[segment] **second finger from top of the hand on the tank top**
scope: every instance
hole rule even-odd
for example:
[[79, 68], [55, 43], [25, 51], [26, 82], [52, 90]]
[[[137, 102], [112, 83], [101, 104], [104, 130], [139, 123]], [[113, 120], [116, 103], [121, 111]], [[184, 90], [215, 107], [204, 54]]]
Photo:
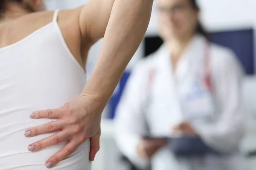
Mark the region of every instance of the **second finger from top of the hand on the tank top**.
[[50, 133], [50, 132], [55, 132], [57, 130], [61, 130], [65, 126], [66, 125], [61, 120], [52, 121], [52, 122], [46, 123], [44, 125], [39, 125], [37, 127], [32, 127], [31, 129], [26, 130], [24, 135], [26, 137], [37, 136], [39, 134]]

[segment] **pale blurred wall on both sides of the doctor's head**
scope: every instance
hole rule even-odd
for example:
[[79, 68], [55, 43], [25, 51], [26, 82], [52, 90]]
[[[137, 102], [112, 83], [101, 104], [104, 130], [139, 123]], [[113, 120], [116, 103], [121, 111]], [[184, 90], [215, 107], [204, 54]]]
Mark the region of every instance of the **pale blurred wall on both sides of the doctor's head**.
[[[202, 23], [208, 30], [256, 27], [255, 0], [198, 0]], [[157, 0], [148, 34], [157, 34]]]

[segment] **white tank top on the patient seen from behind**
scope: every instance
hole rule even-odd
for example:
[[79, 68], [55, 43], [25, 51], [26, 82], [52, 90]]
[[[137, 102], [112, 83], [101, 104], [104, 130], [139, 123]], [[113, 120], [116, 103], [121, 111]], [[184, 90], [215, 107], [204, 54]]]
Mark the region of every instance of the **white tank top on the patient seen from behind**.
[[[66, 144], [31, 153], [29, 144], [54, 133], [26, 138], [30, 127], [55, 119], [29, 118], [33, 111], [59, 108], [78, 96], [86, 74], [53, 21], [23, 40], [0, 48], [0, 170], [47, 170], [45, 161]], [[52, 170], [90, 170], [90, 142], [84, 142]]]

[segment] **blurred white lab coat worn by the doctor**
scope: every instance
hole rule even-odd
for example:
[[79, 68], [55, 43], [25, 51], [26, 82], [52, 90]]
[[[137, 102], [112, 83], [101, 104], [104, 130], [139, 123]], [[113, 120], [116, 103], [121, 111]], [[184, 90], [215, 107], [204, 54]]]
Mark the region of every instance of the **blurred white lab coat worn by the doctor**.
[[[172, 127], [185, 121], [180, 96], [203, 75], [206, 44], [203, 36], [196, 35], [183, 52], [175, 73], [165, 45], [132, 71], [117, 108], [115, 130], [119, 149], [138, 167], [148, 164], [136, 151], [140, 137], [148, 134], [147, 125], [153, 136], [170, 136]], [[247, 170], [239, 151], [245, 130], [240, 94], [243, 71], [229, 49], [215, 44], [210, 44], [209, 49], [215, 110], [211, 119], [189, 122], [206, 144], [230, 155], [179, 158], [163, 147], [151, 160], [153, 170]], [[155, 76], [148, 92], [152, 68]], [[151, 102], [147, 105], [149, 93]]]

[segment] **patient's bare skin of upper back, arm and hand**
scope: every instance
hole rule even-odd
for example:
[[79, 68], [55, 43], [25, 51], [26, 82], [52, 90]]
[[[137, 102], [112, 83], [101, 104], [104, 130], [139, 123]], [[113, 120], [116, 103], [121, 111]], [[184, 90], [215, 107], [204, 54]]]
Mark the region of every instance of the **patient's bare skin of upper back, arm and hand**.
[[[81, 95], [61, 108], [31, 114], [32, 119], [58, 118], [58, 121], [26, 130], [31, 133], [29, 137], [61, 130], [30, 144], [29, 147], [35, 146], [32, 152], [68, 141], [45, 162], [50, 165], [48, 167], [70, 156], [87, 139], [91, 141], [90, 160], [94, 159], [99, 150], [101, 113], [145, 35], [152, 4], [153, 0], [90, 0], [79, 8], [59, 12], [58, 24], [64, 40], [82, 67], [91, 45], [102, 37], [104, 40]], [[8, 3], [0, 17], [0, 48], [22, 40], [50, 23], [53, 11], [41, 11], [43, 9], [42, 0]]]

